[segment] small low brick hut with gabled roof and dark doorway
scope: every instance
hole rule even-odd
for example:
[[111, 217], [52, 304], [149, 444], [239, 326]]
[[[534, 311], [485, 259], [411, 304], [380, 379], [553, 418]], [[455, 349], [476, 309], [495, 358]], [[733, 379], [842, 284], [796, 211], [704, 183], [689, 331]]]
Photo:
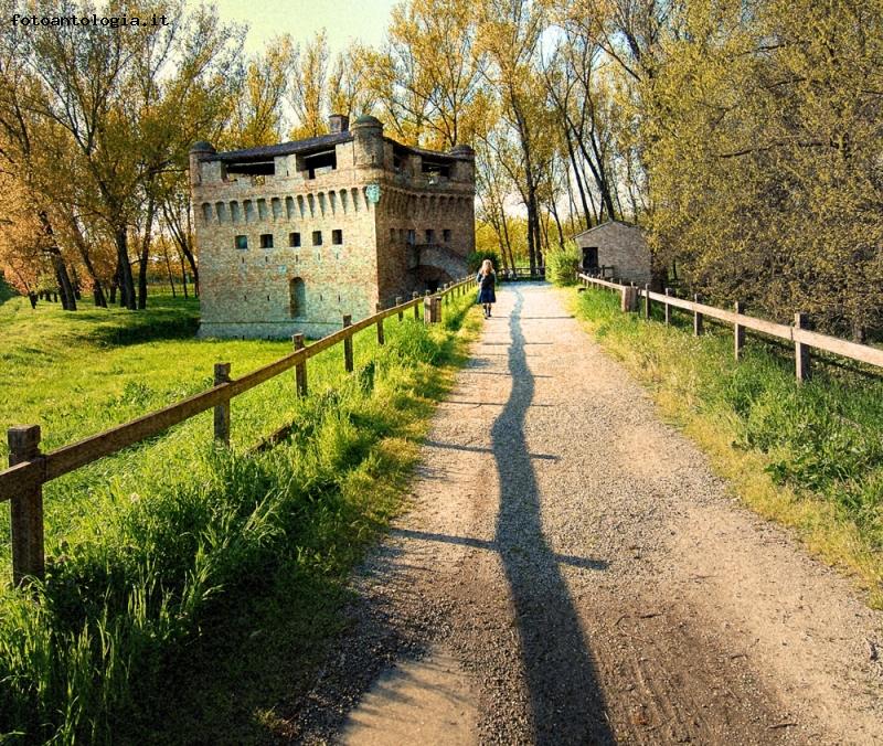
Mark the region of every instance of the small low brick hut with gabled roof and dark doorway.
[[608, 221], [574, 236], [581, 271], [600, 273], [645, 285], [652, 280], [650, 248], [643, 231], [631, 223]]

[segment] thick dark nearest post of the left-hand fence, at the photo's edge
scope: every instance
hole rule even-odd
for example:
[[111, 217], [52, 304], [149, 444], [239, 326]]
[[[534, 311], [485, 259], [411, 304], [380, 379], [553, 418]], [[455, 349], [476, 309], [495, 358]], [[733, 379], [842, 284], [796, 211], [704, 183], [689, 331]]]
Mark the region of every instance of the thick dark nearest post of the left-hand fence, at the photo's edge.
[[[10, 427], [9, 466], [40, 458], [40, 425]], [[43, 579], [45, 557], [43, 554], [43, 484], [22, 490], [12, 498], [12, 583], [24, 586], [28, 578]]]

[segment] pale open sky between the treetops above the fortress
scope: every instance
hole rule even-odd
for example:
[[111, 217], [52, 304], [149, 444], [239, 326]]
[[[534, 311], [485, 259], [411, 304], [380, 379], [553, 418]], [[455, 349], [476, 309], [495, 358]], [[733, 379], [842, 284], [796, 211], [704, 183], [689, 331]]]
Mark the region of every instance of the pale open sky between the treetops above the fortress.
[[[267, 41], [290, 33], [301, 45], [317, 31], [328, 32], [333, 56], [352, 39], [372, 46], [383, 33], [395, 0], [211, 0], [225, 21], [248, 24], [246, 52], [258, 52]], [[196, 3], [193, 3], [196, 4]]]

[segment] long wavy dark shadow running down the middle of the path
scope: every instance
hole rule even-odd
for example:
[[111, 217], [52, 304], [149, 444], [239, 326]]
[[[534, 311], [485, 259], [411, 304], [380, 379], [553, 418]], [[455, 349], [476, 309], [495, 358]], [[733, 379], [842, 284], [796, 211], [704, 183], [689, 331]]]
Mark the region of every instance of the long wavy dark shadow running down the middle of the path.
[[523, 294], [509, 320], [512, 392], [491, 429], [500, 477], [496, 544], [511, 587], [536, 744], [613, 744], [576, 609], [543, 537], [540, 492], [524, 420], [534, 395], [521, 329]]

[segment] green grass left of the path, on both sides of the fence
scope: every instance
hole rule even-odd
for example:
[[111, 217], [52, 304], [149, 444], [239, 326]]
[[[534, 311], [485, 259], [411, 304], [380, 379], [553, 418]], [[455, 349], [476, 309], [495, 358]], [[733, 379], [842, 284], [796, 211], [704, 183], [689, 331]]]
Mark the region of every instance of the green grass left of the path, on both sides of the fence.
[[[289, 374], [237, 397], [228, 450], [205, 413], [45, 486], [46, 582], [0, 594], [0, 740], [284, 735], [274, 708], [345, 624], [348, 573], [401, 507], [471, 300], [434, 329], [387, 320], [384, 348], [360, 333], [354, 375], [321, 353], [306, 398]], [[290, 349], [189, 339], [195, 307], [170, 299], [141, 315], [17, 302], [0, 307], [0, 411], [44, 425], [50, 447], [204, 388], [215, 361], [235, 376]]]

